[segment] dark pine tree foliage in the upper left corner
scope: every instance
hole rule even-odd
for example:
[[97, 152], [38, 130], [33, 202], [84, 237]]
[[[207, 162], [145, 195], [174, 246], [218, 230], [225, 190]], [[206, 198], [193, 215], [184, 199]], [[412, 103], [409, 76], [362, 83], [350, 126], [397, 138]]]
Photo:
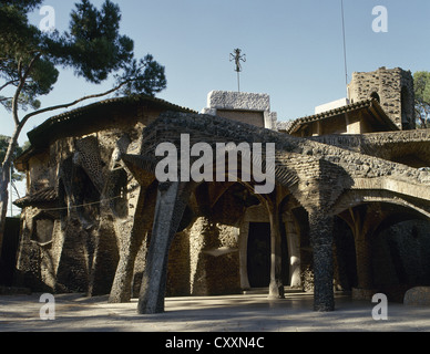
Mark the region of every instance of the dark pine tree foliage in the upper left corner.
[[20, 108], [38, 110], [38, 97], [52, 92], [59, 79], [58, 66], [71, 67], [78, 77], [94, 84], [115, 74], [122, 80], [117, 84], [126, 83], [123, 93], [127, 94], [154, 95], [166, 87], [164, 67], [151, 55], [134, 59], [133, 40], [120, 34], [119, 6], [106, 0], [98, 10], [89, 0], [81, 0], [70, 15], [68, 31], [44, 33], [28, 20], [29, 11], [42, 2], [0, 2], [0, 104], [6, 108], [13, 111], [13, 95], [1, 91], [12, 87], [19, 91]]

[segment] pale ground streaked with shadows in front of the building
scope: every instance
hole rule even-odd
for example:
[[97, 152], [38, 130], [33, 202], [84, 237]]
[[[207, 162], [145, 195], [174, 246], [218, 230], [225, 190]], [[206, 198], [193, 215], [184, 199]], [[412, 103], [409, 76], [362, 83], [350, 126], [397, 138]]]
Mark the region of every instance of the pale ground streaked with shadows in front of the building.
[[1, 332], [430, 332], [430, 309], [390, 303], [388, 321], [375, 304], [336, 298], [336, 311], [313, 311], [311, 294], [166, 299], [166, 312], [139, 315], [137, 301], [109, 304], [108, 296], [55, 296], [55, 320], [41, 321], [40, 296], [0, 296]]

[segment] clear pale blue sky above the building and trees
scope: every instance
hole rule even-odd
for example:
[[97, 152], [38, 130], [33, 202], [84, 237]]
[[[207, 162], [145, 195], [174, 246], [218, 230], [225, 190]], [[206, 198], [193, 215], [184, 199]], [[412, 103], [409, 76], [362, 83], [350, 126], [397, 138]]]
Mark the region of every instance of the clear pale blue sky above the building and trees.
[[[69, 25], [75, 1], [47, 0], [55, 25]], [[102, 0], [93, 0], [100, 7]], [[340, 0], [116, 0], [121, 32], [135, 42], [136, 56], [154, 55], [166, 67], [167, 90], [158, 97], [196, 111], [208, 92], [237, 90], [229, 53], [247, 56], [240, 75], [244, 92], [267, 93], [279, 121], [314, 113], [315, 106], [346, 95]], [[349, 80], [352, 72], [400, 66], [430, 70], [430, 1], [344, 0]], [[376, 33], [372, 9], [385, 6], [388, 32]], [[43, 15], [32, 15], [38, 24]], [[51, 105], [111, 87], [86, 85], [62, 72]], [[10, 117], [0, 112], [9, 127]], [[28, 129], [49, 117], [29, 123]], [[27, 129], [27, 131], [28, 131]], [[7, 133], [4, 132], [4, 133]], [[3, 132], [2, 132], [3, 134]], [[24, 139], [23, 136], [22, 139]], [[21, 139], [21, 140], [22, 140]]]

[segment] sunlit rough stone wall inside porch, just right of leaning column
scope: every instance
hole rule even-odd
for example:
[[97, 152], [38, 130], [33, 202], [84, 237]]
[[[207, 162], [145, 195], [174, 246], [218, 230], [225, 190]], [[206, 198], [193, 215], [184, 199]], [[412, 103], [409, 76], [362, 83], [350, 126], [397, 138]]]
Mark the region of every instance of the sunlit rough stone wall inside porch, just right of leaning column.
[[[242, 188], [235, 188], [242, 191]], [[213, 295], [240, 291], [239, 232], [245, 208], [234, 191], [213, 191], [217, 202], [176, 233], [168, 258], [167, 295]], [[219, 194], [222, 194], [219, 196]], [[208, 205], [214, 204], [209, 198]], [[205, 208], [204, 205], [199, 205]]]

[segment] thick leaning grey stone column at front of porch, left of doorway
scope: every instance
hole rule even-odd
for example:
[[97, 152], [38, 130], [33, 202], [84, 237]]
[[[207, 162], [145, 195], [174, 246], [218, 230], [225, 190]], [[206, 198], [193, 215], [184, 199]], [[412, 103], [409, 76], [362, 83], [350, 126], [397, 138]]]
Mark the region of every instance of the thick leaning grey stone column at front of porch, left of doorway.
[[140, 314], [164, 312], [168, 249], [190, 199], [188, 187], [190, 184], [181, 183], [158, 186], [154, 227], [137, 305]]

